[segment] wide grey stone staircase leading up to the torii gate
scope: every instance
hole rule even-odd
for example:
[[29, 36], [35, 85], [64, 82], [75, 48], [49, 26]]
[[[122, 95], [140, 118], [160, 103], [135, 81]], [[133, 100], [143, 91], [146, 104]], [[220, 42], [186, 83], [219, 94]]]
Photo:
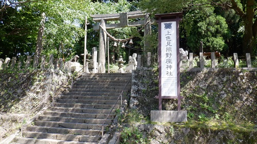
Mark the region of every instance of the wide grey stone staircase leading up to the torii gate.
[[[107, 115], [131, 76], [131, 73], [83, 75], [69, 92], [56, 99], [54, 107], [49, 107], [24, 130], [23, 137], [16, 138], [16, 143], [98, 143], [102, 124], [105, 129], [112, 123], [115, 110]], [[122, 99], [130, 89], [131, 81]], [[120, 105], [119, 99], [114, 109]]]

